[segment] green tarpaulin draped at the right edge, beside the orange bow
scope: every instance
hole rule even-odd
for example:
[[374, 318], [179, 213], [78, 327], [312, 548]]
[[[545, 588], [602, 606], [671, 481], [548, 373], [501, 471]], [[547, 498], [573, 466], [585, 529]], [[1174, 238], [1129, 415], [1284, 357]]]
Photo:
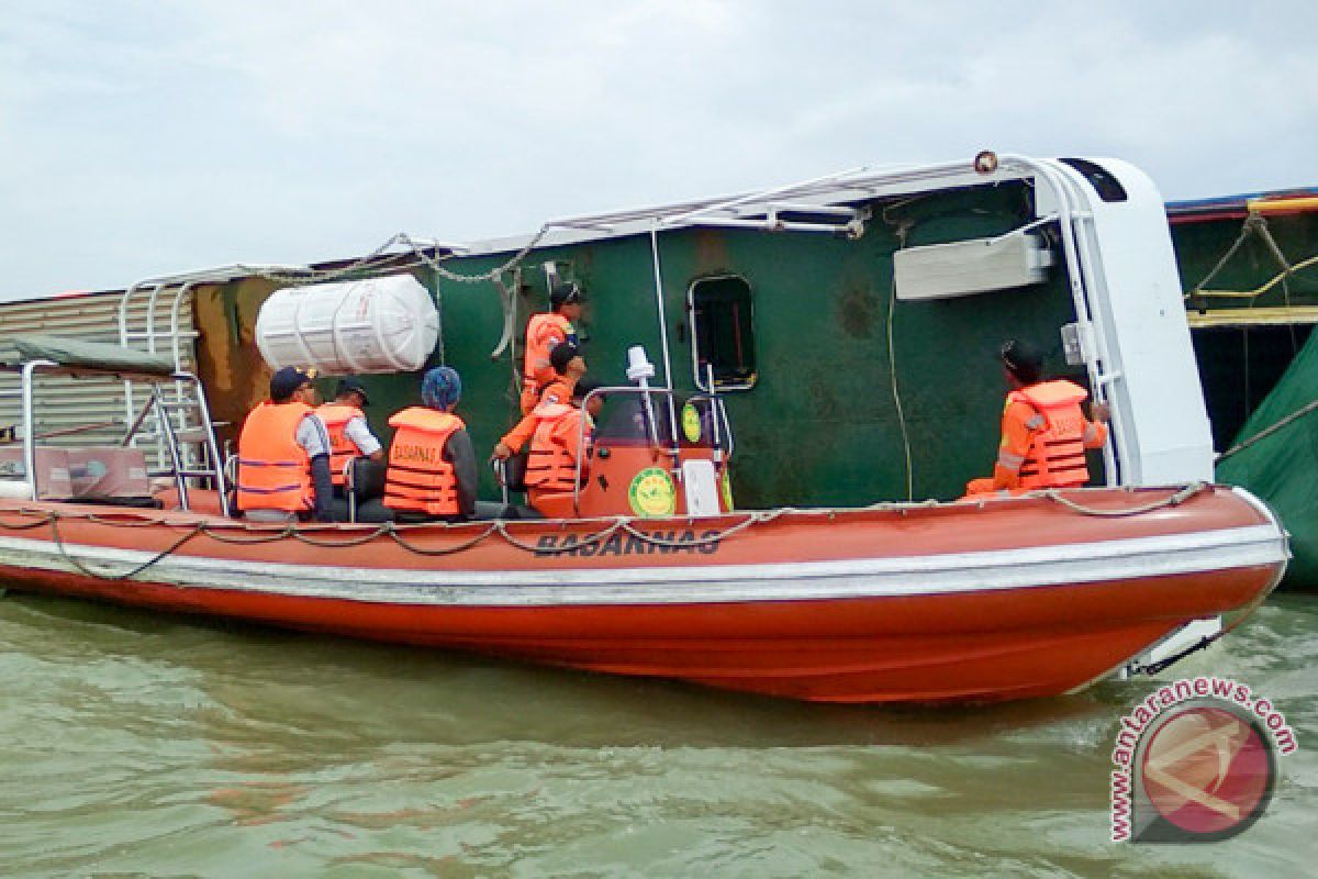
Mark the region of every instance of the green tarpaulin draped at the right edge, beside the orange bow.
[[1318, 589], [1318, 409], [1304, 410], [1315, 399], [1318, 332], [1309, 337], [1281, 381], [1240, 428], [1234, 445], [1247, 445], [1228, 449], [1217, 469], [1219, 481], [1249, 489], [1281, 517], [1294, 553], [1286, 584], [1309, 590]]

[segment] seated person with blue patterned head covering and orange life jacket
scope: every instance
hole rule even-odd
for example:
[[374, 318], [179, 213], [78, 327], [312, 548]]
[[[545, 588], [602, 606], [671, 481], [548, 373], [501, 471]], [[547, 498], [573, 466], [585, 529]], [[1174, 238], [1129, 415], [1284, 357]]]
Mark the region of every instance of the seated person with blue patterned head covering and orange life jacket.
[[463, 380], [449, 366], [435, 366], [422, 380], [424, 406], [394, 414], [389, 426], [385, 506], [399, 522], [463, 522], [476, 513], [476, 452], [463, 419], [453, 414]]

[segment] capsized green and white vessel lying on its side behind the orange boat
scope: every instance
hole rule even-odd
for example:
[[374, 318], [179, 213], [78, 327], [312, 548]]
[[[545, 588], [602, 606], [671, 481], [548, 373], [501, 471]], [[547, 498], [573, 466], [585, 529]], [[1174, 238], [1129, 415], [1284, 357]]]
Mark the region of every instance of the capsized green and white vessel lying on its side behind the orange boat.
[[[996, 456], [1007, 339], [1111, 403], [1095, 482], [1213, 472], [1162, 198], [1118, 159], [986, 152], [497, 241], [397, 236], [356, 260], [152, 278], [119, 298], [119, 339], [195, 358], [232, 440], [266, 395], [257, 323], [272, 294], [397, 274], [431, 294], [439, 332], [418, 369], [362, 376], [381, 435], [415, 402], [419, 372], [443, 362], [463, 374], [477, 448], [492, 448], [518, 414], [527, 316], [571, 281], [588, 299], [579, 331], [594, 377], [623, 383], [627, 348], [643, 345], [656, 383], [724, 398], [741, 507], [958, 497]], [[130, 412], [127, 395], [115, 405]], [[497, 493], [492, 478], [484, 490]]]

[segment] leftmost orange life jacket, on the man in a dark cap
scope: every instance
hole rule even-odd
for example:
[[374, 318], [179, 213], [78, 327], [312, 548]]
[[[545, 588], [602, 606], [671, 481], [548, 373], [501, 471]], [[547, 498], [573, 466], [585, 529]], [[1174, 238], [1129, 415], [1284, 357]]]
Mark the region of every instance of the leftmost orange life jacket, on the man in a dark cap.
[[239, 435], [240, 510], [312, 509], [311, 460], [297, 439], [298, 424], [310, 414], [306, 403], [270, 401], [248, 414]]

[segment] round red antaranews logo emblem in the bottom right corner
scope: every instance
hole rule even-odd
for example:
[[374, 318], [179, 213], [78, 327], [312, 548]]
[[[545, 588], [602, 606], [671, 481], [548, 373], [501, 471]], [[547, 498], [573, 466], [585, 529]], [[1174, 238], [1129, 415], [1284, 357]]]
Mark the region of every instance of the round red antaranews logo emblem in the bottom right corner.
[[1267, 734], [1234, 705], [1186, 706], [1152, 730], [1139, 762], [1144, 796], [1165, 838], [1226, 839], [1272, 799], [1276, 760]]

